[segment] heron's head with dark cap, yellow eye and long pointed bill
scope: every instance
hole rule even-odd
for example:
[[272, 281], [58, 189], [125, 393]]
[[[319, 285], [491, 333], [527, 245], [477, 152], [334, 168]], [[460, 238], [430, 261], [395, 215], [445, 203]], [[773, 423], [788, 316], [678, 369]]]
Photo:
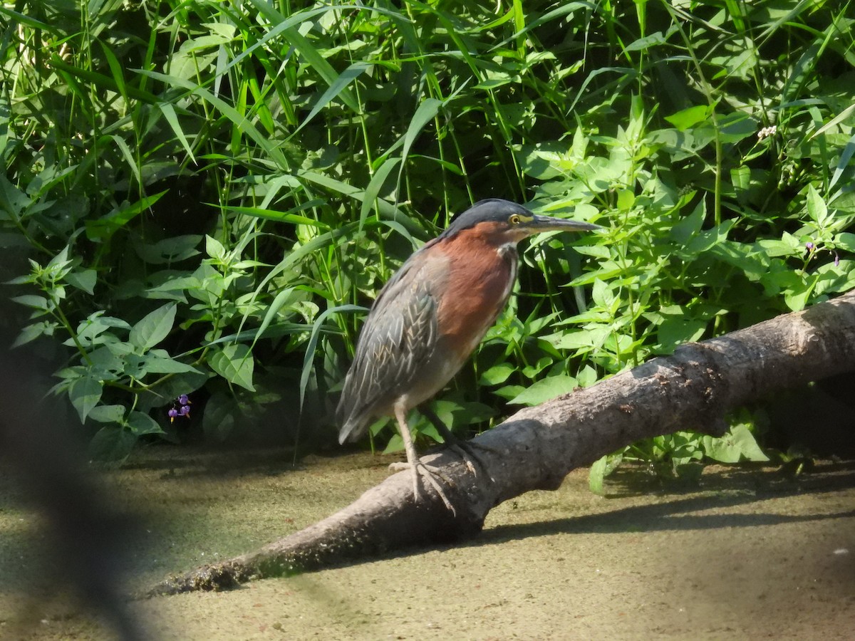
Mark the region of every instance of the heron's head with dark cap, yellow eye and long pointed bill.
[[490, 244], [516, 244], [540, 232], [593, 232], [603, 227], [589, 222], [570, 221], [534, 214], [522, 205], [500, 198], [475, 203], [458, 215], [439, 238], [452, 238], [461, 232], [473, 232]]

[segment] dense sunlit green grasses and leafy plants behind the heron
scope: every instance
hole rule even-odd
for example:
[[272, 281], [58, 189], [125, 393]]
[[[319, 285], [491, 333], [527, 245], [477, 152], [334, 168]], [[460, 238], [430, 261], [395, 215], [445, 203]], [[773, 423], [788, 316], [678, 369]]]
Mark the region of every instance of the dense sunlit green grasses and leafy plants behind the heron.
[[[275, 408], [289, 438], [323, 440], [363, 306], [482, 197], [610, 232], [531, 242], [518, 296], [439, 400], [457, 428], [802, 309], [855, 286], [852, 14], [6, 3], [0, 245], [30, 313], [18, 342], [61, 352], [56, 391], [99, 456], [176, 438], [184, 394], [212, 438]], [[636, 444], [595, 477], [622, 457], [764, 457], [756, 421], [732, 422], [725, 439]]]

